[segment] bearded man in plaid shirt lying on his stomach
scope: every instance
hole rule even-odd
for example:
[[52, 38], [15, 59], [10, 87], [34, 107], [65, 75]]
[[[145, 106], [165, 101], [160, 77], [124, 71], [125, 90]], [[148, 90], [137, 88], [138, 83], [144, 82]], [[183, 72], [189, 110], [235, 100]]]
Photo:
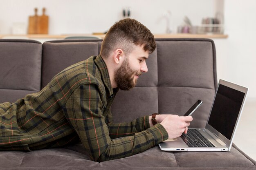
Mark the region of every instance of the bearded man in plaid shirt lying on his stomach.
[[148, 71], [146, 59], [155, 48], [143, 24], [116, 22], [100, 55], [61, 71], [38, 93], [0, 104], [0, 150], [54, 148], [81, 140], [91, 159], [100, 162], [135, 155], [186, 133], [191, 116], [154, 114], [153, 119], [112, 123], [110, 106], [118, 89], [135, 86]]

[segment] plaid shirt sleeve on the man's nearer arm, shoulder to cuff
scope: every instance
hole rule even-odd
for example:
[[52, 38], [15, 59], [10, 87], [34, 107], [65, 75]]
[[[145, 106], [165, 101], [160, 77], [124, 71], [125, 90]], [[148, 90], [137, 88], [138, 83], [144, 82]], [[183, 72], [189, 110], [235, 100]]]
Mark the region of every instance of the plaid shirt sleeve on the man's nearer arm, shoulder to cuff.
[[101, 113], [102, 106], [98, 86], [84, 84], [76, 88], [63, 109], [66, 119], [94, 161], [135, 155], [168, 138], [164, 127], [157, 124], [144, 131], [135, 132], [132, 136], [111, 140], [105, 117]]

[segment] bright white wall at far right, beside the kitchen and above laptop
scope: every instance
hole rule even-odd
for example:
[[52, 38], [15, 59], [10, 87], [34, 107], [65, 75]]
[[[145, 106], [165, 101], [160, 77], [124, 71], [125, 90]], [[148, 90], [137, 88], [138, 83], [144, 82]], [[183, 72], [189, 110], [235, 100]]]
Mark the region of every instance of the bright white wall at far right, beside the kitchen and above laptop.
[[256, 1], [225, 0], [227, 40], [215, 40], [218, 79], [249, 88], [248, 99], [256, 104]]

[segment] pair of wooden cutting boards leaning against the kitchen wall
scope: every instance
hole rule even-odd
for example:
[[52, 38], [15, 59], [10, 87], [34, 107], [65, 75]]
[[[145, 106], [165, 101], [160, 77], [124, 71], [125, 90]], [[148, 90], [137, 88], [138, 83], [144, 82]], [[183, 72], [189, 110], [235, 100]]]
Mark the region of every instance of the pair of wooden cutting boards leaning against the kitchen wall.
[[43, 8], [43, 15], [37, 15], [37, 8], [35, 8], [35, 15], [29, 16], [29, 34], [48, 34], [49, 17], [45, 15], [45, 8]]

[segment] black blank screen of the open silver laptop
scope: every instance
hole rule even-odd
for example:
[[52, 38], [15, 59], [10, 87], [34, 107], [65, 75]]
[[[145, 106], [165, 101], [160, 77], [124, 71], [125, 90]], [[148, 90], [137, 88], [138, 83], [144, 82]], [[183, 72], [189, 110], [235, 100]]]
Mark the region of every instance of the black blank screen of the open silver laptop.
[[243, 92], [219, 84], [208, 124], [229, 140], [233, 134], [244, 96]]

